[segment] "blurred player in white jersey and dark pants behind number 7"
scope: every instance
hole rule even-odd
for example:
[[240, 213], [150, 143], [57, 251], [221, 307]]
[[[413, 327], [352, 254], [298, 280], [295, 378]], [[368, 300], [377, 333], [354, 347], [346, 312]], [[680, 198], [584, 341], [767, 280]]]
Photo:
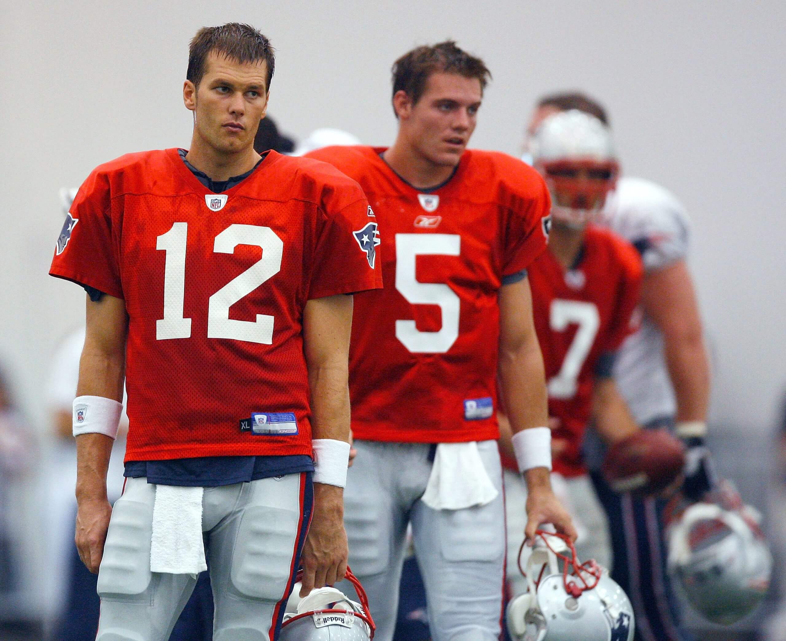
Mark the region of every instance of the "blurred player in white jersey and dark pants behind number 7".
[[[578, 109], [608, 126], [604, 108], [583, 94], [564, 93], [538, 101], [527, 127], [529, 137], [545, 118]], [[674, 196], [652, 182], [620, 178], [609, 195], [602, 222], [630, 241], [641, 255], [641, 328], [619, 350], [615, 379], [636, 422], [675, 427], [685, 440], [688, 464], [682, 492], [700, 499], [714, 483], [704, 438], [710, 368], [699, 306], [686, 257], [689, 220]], [[589, 448], [589, 444], [588, 444]], [[600, 465], [599, 457], [588, 462]], [[678, 607], [666, 571], [663, 502], [618, 495], [593, 470], [592, 477], [612, 528], [612, 578], [633, 602], [637, 641], [678, 641], [692, 637], [681, 629]]]

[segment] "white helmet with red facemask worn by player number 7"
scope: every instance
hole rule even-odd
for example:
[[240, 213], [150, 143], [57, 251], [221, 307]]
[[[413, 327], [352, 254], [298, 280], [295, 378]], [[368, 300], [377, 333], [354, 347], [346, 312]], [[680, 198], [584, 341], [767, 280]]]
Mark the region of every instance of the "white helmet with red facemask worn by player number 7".
[[578, 109], [543, 120], [527, 153], [549, 186], [553, 219], [569, 227], [583, 227], [601, 211], [619, 175], [611, 131]]

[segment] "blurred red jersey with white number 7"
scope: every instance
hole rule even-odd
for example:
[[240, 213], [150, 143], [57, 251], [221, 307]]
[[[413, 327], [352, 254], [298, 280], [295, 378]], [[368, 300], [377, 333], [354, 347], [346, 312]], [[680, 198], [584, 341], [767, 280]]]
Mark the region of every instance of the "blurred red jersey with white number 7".
[[587, 227], [582, 256], [565, 271], [551, 252], [530, 269], [535, 330], [549, 388], [549, 416], [560, 419], [555, 439], [567, 450], [554, 471], [567, 477], [586, 473], [581, 457], [592, 411], [598, 360], [619, 349], [635, 329], [632, 315], [641, 292], [641, 259], [623, 238]]

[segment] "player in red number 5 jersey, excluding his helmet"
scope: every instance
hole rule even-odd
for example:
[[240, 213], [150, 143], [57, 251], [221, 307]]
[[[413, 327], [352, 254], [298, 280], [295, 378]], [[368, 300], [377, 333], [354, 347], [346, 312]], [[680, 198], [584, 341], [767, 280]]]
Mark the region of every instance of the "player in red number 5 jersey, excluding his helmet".
[[520, 160], [466, 149], [488, 77], [483, 61], [454, 42], [418, 47], [393, 68], [393, 146], [308, 154], [360, 183], [383, 230], [384, 290], [354, 309], [358, 457], [344, 496], [350, 563], [381, 641], [394, 634], [410, 523], [433, 639], [498, 639], [498, 377], [530, 489], [527, 536], [545, 522], [574, 535], [549, 483], [527, 280], [545, 249], [549, 193]]

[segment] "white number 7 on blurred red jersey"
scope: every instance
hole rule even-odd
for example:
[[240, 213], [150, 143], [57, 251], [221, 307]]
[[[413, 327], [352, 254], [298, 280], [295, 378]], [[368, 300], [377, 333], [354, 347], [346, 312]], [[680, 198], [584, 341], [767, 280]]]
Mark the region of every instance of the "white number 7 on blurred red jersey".
[[576, 393], [578, 373], [592, 349], [598, 327], [601, 326], [601, 315], [593, 303], [556, 299], [551, 303], [549, 324], [556, 332], [564, 332], [571, 324], [578, 325], [559, 374], [549, 379], [549, 396], [554, 399], [569, 399]]

